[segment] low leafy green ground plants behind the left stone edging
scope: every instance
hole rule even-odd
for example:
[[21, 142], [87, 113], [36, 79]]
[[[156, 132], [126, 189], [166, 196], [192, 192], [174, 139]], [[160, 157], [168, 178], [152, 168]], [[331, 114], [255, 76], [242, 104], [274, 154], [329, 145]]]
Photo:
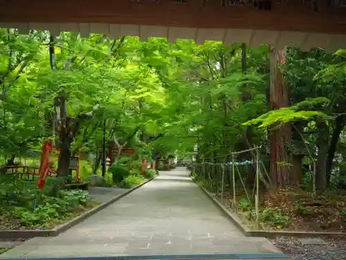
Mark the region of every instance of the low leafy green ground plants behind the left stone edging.
[[[87, 191], [62, 190], [58, 197], [51, 196], [53, 184], [54, 181], [48, 179], [44, 189], [38, 190], [37, 182], [3, 180], [0, 183], [1, 225], [10, 229], [51, 227], [91, 206]], [[34, 208], [35, 199], [37, 207]]]

